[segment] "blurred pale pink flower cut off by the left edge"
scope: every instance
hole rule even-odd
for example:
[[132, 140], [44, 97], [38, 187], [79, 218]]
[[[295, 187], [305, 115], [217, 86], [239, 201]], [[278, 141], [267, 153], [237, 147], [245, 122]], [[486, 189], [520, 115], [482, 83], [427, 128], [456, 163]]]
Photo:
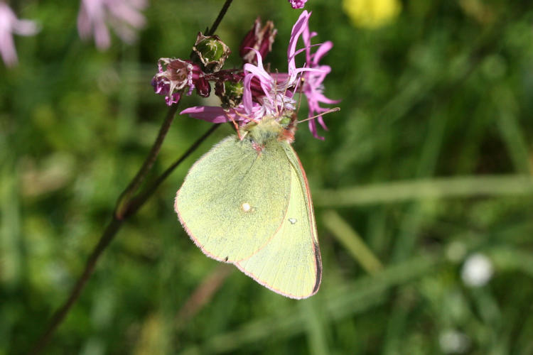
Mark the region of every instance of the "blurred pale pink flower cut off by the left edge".
[[38, 26], [30, 20], [19, 20], [11, 8], [0, 1], [0, 55], [8, 67], [16, 65], [16, 55], [13, 34], [34, 35], [38, 32]]

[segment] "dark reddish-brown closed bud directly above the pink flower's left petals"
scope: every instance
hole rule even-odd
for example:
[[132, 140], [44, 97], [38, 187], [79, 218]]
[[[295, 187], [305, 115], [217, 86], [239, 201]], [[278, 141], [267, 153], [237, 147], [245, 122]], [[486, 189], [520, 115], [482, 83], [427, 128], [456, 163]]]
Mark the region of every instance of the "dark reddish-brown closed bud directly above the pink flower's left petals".
[[[256, 18], [252, 29], [244, 36], [239, 54], [246, 63], [257, 65], [257, 56], [254, 50], [257, 50], [262, 58], [272, 50], [272, 43], [278, 31], [274, 28], [272, 21], [266, 21], [261, 28], [261, 18]], [[254, 50], [250, 49], [253, 48]]]

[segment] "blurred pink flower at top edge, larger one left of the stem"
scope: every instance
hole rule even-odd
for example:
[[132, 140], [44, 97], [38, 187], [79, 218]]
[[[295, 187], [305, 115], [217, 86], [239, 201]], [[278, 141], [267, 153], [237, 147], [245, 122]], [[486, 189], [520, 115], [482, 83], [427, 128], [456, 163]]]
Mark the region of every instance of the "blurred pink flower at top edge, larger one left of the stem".
[[100, 50], [111, 45], [108, 25], [124, 42], [132, 43], [136, 30], [146, 23], [141, 13], [146, 6], [146, 0], [81, 0], [77, 31], [84, 40], [94, 36]]

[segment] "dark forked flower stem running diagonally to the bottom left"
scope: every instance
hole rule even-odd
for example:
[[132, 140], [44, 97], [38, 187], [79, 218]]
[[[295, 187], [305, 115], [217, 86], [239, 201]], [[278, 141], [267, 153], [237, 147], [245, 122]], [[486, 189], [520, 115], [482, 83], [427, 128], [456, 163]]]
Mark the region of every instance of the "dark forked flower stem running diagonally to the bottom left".
[[[222, 21], [222, 18], [225, 16], [225, 13], [227, 12], [227, 9], [230, 7], [231, 3], [232, 0], [225, 1], [225, 4], [222, 6], [220, 13], [218, 14], [215, 22], [212, 24], [208, 33], [212, 34], [216, 31], [218, 25], [220, 24], [220, 21]], [[137, 197], [132, 199], [131, 197], [139, 189], [139, 186], [146, 178], [146, 174], [154, 165], [157, 155], [161, 150], [161, 145], [163, 144], [163, 141], [166, 137], [166, 133], [168, 133], [168, 129], [170, 129], [171, 123], [174, 119], [174, 116], [176, 115], [176, 111], [178, 110], [177, 106], [178, 105], [176, 104], [168, 109], [168, 113], [166, 114], [163, 124], [161, 124], [161, 129], [159, 129], [159, 133], [156, 138], [156, 141], [154, 142], [154, 145], [152, 146], [148, 156], [144, 160], [144, 163], [139, 169], [139, 172], [135, 175], [131, 182], [129, 182], [126, 189], [124, 189], [124, 192], [119, 195], [119, 198], [117, 200], [117, 207], [113, 212], [112, 219], [109, 224], [107, 224], [106, 229], [104, 229], [102, 236], [100, 236], [100, 239], [95, 248], [92, 250], [92, 253], [90, 254], [89, 258], [87, 258], [85, 269], [80, 275], [80, 278], [77, 279], [77, 282], [70, 291], [67, 300], [58, 310], [54, 312], [54, 315], [50, 319], [50, 322], [48, 322], [45, 331], [38, 339], [38, 341], [33, 344], [29, 354], [41, 354], [44, 351], [45, 346], [48, 344], [48, 342], [50, 342], [50, 339], [53, 337], [53, 334], [58, 329], [60, 324], [63, 323], [65, 317], [72, 309], [72, 305], [74, 305], [77, 299], [80, 297], [83, 288], [85, 288], [85, 285], [87, 284], [87, 281], [91, 277], [92, 273], [95, 271], [95, 266], [99, 257], [102, 255], [104, 250], [107, 249], [107, 246], [109, 246], [111, 241], [114, 239], [114, 236], [117, 235], [117, 232], [120, 230], [124, 221], [128, 217], [131, 217], [131, 215], [135, 214], [135, 212], [139, 210], [139, 208], [144, 204], [144, 202], [146, 202], [146, 200], [148, 200], [149, 197], [154, 194], [156, 188], [161, 185], [161, 182], [168, 178], [168, 175], [170, 175], [172, 171], [176, 169], [178, 165], [180, 165], [183, 160], [185, 160], [185, 158], [188, 157], [188, 155], [193, 153], [193, 151], [195, 151], [196, 148], [200, 146], [200, 143], [205, 141], [205, 138], [210, 136], [210, 134], [214, 132], [215, 129], [217, 129], [218, 125], [213, 125], [209, 129], [209, 131], [207, 131], [203, 136], [198, 138], [198, 140], [195, 141], [195, 143], [193, 143], [190, 148], [185, 151], [185, 153], [183, 153], [183, 155], [181, 155], [178, 160], [176, 160], [175, 163], [173, 163], [169, 168], [167, 168], [167, 170], [165, 170], [163, 174], [161, 174], [151, 185], [149, 185], [149, 187], [147, 187], [144, 192], [140, 193], [139, 195], [137, 195]]]

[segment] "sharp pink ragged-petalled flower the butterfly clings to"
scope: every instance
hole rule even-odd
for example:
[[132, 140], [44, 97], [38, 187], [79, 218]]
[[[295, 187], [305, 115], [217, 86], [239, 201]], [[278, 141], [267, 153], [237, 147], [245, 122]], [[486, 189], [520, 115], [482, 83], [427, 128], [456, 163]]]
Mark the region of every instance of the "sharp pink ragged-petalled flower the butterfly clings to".
[[[319, 106], [319, 103], [333, 103], [333, 100], [323, 96], [322, 82], [330, 72], [327, 65], [318, 65], [318, 61], [330, 50], [330, 42], [321, 45], [316, 53], [311, 54], [311, 40], [313, 34], [309, 34], [308, 20], [311, 13], [303, 11], [298, 21], [294, 24], [287, 49], [288, 72], [272, 75], [264, 68], [262, 55], [254, 50], [257, 65], [244, 64], [244, 92], [242, 102], [234, 108], [222, 109], [222, 107], [190, 107], [181, 111], [181, 114], [189, 114], [193, 118], [203, 119], [213, 123], [234, 121], [236, 124], [247, 124], [249, 121], [259, 121], [265, 116], [281, 119], [290, 116], [296, 110], [295, 92], [302, 91], [309, 102], [309, 116], [314, 112], [321, 113], [327, 109]], [[296, 50], [298, 39], [303, 37], [305, 48]], [[296, 67], [295, 56], [303, 51], [306, 52], [306, 64]], [[303, 87], [298, 87], [303, 78]], [[319, 123], [325, 128], [322, 119]], [[316, 138], [316, 124], [310, 120], [309, 128]]]

